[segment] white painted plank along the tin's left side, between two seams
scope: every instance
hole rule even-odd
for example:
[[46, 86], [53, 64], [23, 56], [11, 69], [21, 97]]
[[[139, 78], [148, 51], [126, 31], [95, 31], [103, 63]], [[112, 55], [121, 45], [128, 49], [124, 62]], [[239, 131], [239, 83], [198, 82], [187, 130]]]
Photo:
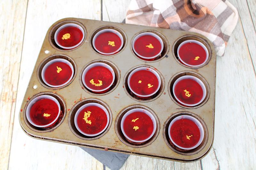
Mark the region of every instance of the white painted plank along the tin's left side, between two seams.
[[79, 147], [28, 137], [22, 131], [18, 120], [20, 105], [48, 28], [55, 21], [66, 17], [99, 20], [100, 9], [100, 0], [28, 2], [10, 169], [103, 169], [99, 161]]

